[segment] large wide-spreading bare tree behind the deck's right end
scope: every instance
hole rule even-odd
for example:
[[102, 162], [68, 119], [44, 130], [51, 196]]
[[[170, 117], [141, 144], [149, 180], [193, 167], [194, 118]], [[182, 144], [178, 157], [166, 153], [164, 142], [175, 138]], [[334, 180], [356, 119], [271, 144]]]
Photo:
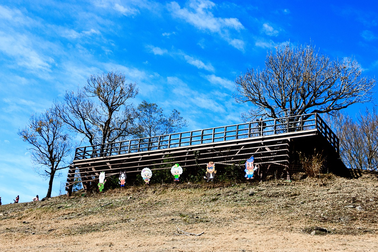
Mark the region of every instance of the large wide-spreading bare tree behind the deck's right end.
[[[244, 120], [265, 116], [333, 113], [371, 101], [375, 79], [361, 76], [355, 59], [330, 60], [310, 43], [277, 46], [266, 56], [265, 68], [247, 70], [235, 79], [234, 98], [254, 106]], [[288, 114], [286, 114], [288, 115]]]

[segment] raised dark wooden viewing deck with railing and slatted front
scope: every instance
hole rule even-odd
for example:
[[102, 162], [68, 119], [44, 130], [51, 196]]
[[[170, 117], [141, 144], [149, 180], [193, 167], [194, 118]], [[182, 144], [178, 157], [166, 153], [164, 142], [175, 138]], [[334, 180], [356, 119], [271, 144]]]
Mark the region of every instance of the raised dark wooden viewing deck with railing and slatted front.
[[253, 155], [255, 164], [263, 167], [265, 174], [271, 166], [279, 166], [286, 170], [287, 179], [290, 179], [289, 168], [297, 151], [310, 153], [317, 148], [324, 150], [330, 159], [339, 158], [338, 137], [318, 114], [263, 122], [265, 127], [256, 121], [79, 147], [68, 171], [66, 190], [71, 193], [75, 178], [82, 181], [86, 190], [90, 182], [98, 179], [101, 171], [111, 176], [121, 170], [140, 173], [144, 167], [169, 166], [172, 162], [164, 163], [167, 157], [185, 168], [198, 168], [206, 167], [209, 160], [218, 167], [242, 166]]

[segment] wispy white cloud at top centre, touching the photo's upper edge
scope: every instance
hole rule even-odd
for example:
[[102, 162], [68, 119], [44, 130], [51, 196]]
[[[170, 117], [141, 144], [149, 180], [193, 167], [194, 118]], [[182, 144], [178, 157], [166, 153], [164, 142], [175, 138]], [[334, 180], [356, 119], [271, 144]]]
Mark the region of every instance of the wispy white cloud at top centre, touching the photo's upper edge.
[[230, 31], [240, 31], [244, 29], [244, 26], [237, 18], [215, 17], [211, 12], [215, 3], [193, 0], [189, 3], [189, 8], [181, 8], [177, 2], [171, 2], [167, 6], [173, 16], [185, 20], [199, 30], [217, 33], [233, 47], [243, 50], [242, 40], [233, 39]]

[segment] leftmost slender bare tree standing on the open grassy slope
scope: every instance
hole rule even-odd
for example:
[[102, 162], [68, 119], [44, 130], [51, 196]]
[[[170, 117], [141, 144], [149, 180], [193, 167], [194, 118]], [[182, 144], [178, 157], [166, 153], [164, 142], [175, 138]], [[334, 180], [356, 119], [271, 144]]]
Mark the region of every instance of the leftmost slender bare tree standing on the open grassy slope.
[[41, 115], [31, 115], [29, 124], [18, 132], [24, 142], [33, 146], [28, 150], [33, 163], [39, 166], [33, 170], [49, 179], [46, 198], [51, 197], [54, 177], [60, 176], [59, 170], [68, 167], [65, 158], [70, 156], [72, 146], [70, 135], [64, 131], [63, 125], [50, 109]]

